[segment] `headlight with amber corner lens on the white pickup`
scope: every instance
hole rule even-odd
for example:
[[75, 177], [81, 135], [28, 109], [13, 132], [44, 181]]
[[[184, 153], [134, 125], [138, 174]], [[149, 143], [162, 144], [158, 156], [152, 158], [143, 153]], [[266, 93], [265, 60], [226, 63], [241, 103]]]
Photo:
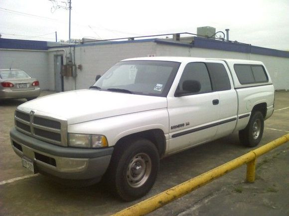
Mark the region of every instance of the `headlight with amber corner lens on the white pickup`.
[[68, 134], [68, 145], [82, 148], [107, 147], [105, 136], [98, 134]]

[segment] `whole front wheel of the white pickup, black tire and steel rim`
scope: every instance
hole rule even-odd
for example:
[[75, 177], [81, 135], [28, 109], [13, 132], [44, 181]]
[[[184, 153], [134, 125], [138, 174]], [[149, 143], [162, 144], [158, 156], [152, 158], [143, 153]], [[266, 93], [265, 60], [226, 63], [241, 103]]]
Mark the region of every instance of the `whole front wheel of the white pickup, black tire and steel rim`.
[[115, 192], [125, 201], [144, 196], [155, 182], [159, 155], [148, 140], [129, 140], [116, 146], [108, 178]]

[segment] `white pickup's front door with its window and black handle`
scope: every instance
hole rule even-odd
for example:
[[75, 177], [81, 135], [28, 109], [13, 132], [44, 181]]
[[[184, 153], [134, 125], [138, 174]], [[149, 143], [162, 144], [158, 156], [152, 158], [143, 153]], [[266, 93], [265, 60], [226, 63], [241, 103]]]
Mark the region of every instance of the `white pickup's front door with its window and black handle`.
[[[200, 85], [199, 89], [188, 84]], [[197, 91], [198, 90], [198, 91]], [[188, 63], [184, 68], [174, 97], [167, 98], [169, 114], [168, 153], [212, 140], [219, 120], [219, 94], [212, 88], [204, 63]]]

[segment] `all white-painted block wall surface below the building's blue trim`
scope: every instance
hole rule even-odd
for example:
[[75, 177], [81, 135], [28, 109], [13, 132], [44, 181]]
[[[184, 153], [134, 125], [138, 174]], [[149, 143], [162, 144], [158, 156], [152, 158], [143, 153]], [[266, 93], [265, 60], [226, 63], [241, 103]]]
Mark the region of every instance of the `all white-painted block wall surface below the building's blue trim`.
[[[73, 52], [73, 49], [72, 49]], [[39, 79], [43, 90], [55, 90], [54, 56], [63, 55], [64, 64], [69, 48], [55, 48], [49, 51], [0, 50], [0, 68], [22, 69]], [[64, 77], [64, 91], [88, 88], [95, 82], [96, 75], [102, 75], [117, 62], [134, 57], [183, 56], [202, 58], [230, 58], [262, 61], [275, 85], [275, 89], [289, 89], [289, 58], [264, 56], [248, 53], [228, 52], [202, 48], [191, 48], [159, 44], [154, 42], [132, 42], [118, 44], [85, 45], [75, 47], [74, 63], [77, 77]], [[72, 56], [74, 56], [72, 54]], [[153, 57], [152, 57], [153, 58]]]

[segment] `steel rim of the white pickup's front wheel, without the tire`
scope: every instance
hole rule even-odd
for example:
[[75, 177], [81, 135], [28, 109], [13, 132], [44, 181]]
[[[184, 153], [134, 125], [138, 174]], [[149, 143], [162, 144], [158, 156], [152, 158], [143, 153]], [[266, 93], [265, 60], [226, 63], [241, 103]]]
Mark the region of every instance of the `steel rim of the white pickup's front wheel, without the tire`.
[[133, 188], [144, 185], [151, 172], [151, 160], [145, 153], [132, 157], [127, 169], [127, 182]]

